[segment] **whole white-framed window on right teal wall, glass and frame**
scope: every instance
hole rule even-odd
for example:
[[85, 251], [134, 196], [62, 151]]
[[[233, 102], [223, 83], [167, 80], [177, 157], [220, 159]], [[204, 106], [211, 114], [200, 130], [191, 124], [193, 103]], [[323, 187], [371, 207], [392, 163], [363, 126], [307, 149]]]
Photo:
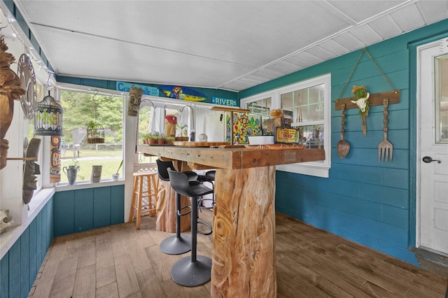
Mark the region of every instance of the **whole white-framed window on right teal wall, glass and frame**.
[[262, 122], [269, 117], [269, 109], [281, 108], [291, 126], [300, 129], [305, 148], [323, 148], [325, 160], [276, 166], [279, 171], [290, 171], [311, 176], [328, 177], [330, 169], [330, 74], [281, 87], [270, 92], [241, 99], [241, 107], [262, 115]]

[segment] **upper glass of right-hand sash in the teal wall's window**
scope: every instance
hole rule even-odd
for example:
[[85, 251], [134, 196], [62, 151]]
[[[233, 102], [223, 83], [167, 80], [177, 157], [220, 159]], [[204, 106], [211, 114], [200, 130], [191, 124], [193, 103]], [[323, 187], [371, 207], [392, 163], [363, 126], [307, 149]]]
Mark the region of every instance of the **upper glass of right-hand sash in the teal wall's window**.
[[287, 117], [292, 113], [293, 122], [310, 122], [323, 120], [323, 87], [316, 85], [281, 94], [280, 104]]

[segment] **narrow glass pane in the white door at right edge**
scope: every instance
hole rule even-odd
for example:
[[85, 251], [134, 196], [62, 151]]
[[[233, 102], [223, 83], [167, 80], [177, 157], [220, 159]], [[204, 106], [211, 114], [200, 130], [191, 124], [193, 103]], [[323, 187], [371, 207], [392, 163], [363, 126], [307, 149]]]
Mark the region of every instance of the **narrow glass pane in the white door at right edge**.
[[448, 143], [448, 55], [435, 58], [435, 142]]

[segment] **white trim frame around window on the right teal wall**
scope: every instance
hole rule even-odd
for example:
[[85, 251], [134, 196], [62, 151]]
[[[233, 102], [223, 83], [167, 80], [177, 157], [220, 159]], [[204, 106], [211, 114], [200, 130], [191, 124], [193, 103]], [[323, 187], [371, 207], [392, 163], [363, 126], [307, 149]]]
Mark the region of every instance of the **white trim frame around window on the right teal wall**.
[[329, 177], [331, 168], [331, 74], [328, 73], [323, 76], [311, 78], [309, 80], [303, 80], [293, 85], [288, 85], [285, 87], [278, 88], [276, 90], [271, 90], [269, 92], [264, 92], [253, 95], [251, 97], [241, 99], [240, 101], [241, 108], [244, 108], [246, 104], [250, 103], [251, 101], [265, 99], [267, 97], [271, 97], [272, 99], [271, 108], [273, 109], [280, 108], [281, 94], [321, 84], [325, 85], [323, 96], [324, 101], [323, 113], [324, 113], [324, 127], [325, 127], [323, 149], [325, 150], [325, 160], [323, 162], [302, 162], [297, 164], [282, 164], [280, 166], [276, 166], [277, 171], [287, 171], [291, 173], [300, 173], [304, 175], [317, 176], [323, 178]]

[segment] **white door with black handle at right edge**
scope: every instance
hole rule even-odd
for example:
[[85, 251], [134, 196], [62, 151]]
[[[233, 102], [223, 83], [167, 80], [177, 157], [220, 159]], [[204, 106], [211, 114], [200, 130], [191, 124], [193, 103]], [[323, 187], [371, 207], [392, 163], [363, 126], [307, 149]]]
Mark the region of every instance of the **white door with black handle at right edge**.
[[448, 38], [417, 51], [419, 245], [448, 254]]

